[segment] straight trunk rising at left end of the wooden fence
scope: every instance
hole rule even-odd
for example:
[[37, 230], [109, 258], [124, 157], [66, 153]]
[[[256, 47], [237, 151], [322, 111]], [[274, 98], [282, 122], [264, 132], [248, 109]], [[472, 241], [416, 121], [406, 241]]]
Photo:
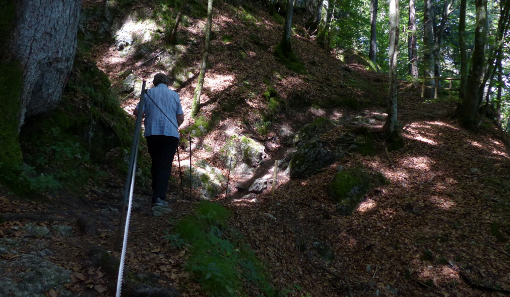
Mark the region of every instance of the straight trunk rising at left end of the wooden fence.
[[[423, 2], [423, 64], [425, 68], [425, 78], [434, 77], [434, 4], [432, 0], [424, 0]], [[436, 85], [434, 80], [426, 80], [426, 86], [433, 87]], [[434, 89], [425, 88], [425, 98], [434, 96]]]

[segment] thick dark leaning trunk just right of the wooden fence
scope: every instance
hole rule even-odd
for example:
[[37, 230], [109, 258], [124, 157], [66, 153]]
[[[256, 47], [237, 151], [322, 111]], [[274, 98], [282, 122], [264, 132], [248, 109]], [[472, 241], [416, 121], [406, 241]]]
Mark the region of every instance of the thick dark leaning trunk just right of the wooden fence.
[[485, 60], [485, 44], [487, 40], [487, 0], [475, 0], [476, 29], [471, 66], [464, 94], [465, 108], [462, 114], [462, 125], [472, 130], [479, 106], [480, 81], [483, 75]]

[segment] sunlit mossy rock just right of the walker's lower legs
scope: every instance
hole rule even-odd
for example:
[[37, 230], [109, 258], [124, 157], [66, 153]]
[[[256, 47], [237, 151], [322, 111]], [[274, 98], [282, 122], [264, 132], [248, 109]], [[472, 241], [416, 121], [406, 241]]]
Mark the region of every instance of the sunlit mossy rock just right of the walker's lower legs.
[[[185, 187], [190, 186], [190, 170], [189, 166], [184, 165], [183, 183]], [[200, 194], [206, 199], [214, 199], [221, 193], [222, 185], [226, 183], [225, 176], [221, 170], [211, 166], [206, 160], [199, 160], [191, 170], [191, 187], [199, 190]]]

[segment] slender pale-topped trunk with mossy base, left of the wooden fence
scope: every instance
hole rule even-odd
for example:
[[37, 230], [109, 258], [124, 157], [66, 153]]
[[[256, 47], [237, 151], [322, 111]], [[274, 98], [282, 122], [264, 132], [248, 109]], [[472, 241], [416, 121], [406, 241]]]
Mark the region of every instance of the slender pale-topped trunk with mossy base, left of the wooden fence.
[[390, 0], [390, 23], [389, 23], [389, 77], [390, 77], [390, 107], [388, 110], [388, 117], [384, 125], [384, 129], [392, 133], [397, 128], [397, 95], [398, 95], [398, 81], [397, 81], [397, 64], [398, 64], [398, 0]]

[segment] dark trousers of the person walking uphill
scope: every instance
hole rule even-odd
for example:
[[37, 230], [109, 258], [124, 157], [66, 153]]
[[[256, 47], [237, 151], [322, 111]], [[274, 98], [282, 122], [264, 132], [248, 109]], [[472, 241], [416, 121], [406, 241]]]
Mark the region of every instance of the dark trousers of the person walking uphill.
[[152, 203], [157, 197], [162, 200], [166, 198], [166, 189], [168, 188], [168, 179], [172, 172], [172, 162], [179, 138], [166, 135], [150, 135], [146, 137], [147, 149], [152, 166], [150, 173], [152, 175]]

